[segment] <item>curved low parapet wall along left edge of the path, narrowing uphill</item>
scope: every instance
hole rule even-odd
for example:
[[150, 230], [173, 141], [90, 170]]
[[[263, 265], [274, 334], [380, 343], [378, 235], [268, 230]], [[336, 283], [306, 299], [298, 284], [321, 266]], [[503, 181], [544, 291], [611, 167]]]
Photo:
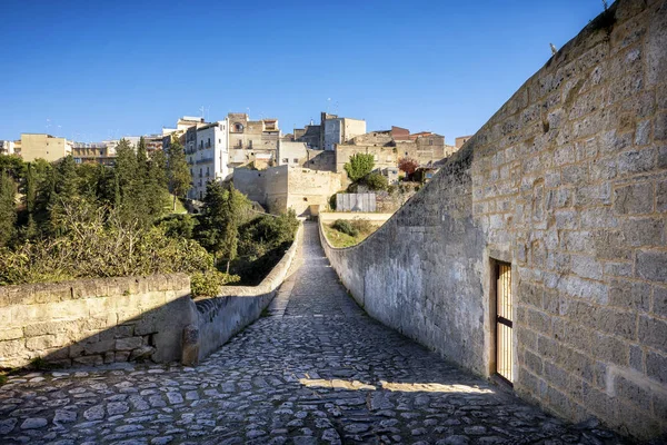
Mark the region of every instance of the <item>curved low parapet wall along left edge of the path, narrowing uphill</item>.
[[299, 226], [291, 247], [259, 286], [225, 286], [219, 296], [195, 301], [199, 313], [198, 332], [186, 346], [183, 363], [203, 359], [261, 316], [287, 277], [302, 233], [303, 226]]

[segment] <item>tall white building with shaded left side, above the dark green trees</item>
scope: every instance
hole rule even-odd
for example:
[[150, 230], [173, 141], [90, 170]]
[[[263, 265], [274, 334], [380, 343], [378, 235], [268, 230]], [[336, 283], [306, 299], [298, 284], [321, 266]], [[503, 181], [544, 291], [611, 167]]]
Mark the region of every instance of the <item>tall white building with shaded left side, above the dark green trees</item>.
[[[188, 132], [191, 132], [191, 128]], [[223, 180], [229, 174], [229, 120], [219, 120], [196, 128], [196, 139], [186, 146], [192, 188], [190, 199], [202, 200], [206, 185], [213, 180]]]

